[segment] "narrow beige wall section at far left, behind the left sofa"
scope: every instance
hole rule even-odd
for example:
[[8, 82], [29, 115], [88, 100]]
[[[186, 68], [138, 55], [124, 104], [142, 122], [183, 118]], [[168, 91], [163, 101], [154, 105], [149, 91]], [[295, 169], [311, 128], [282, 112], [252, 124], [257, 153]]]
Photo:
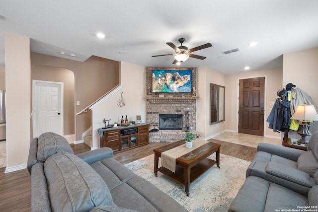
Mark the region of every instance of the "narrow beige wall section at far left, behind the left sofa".
[[5, 33], [6, 172], [25, 168], [30, 146], [30, 39]]

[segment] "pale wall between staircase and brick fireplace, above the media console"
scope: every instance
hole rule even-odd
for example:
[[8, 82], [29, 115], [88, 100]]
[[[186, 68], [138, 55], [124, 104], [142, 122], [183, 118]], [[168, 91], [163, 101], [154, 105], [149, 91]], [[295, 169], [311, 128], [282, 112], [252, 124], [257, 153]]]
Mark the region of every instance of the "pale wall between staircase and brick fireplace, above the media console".
[[[146, 69], [145, 67], [121, 62], [120, 63], [121, 86], [114, 95], [110, 96], [99, 107], [92, 110], [92, 147], [99, 147], [100, 136], [97, 129], [104, 126], [102, 119], [111, 119], [110, 124], [115, 121], [120, 123], [121, 116], [127, 115], [128, 121], [136, 121], [136, 115], [141, 115], [142, 122], [145, 122], [146, 111]], [[135, 79], [135, 80], [132, 80]], [[124, 107], [117, 106], [123, 92], [125, 100]]]

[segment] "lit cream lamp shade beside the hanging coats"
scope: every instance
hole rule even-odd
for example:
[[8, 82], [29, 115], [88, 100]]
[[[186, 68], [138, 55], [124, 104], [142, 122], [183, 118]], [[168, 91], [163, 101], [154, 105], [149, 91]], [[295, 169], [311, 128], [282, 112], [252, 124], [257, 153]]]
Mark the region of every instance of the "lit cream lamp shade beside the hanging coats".
[[303, 121], [318, 121], [318, 114], [314, 105], [298, 105], [296, 112], [290, 119]]

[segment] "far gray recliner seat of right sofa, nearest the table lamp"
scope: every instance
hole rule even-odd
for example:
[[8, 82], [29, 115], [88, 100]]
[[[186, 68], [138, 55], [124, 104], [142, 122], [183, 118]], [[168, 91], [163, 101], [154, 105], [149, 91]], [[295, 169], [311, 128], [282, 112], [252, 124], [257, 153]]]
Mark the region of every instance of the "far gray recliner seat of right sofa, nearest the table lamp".
[[260, 143], [257, 153], [246, 170], [246, 177], [256, 176], [276, 183], [304, 196], [317, 185], [318, 132], [309, 142], [308, 151]]

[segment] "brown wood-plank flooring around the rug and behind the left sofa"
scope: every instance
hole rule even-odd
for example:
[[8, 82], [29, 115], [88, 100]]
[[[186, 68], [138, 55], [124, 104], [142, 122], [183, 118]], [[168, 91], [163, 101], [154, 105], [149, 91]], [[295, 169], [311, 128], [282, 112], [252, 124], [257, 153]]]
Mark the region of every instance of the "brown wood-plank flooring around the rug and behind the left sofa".
[[[256, 153], [256, 148], [240, 144], [213, 141], [221, 144], [221, 154], [251, 161]], [[150, 143], [135, 149], [130, 149], [114, 154], [114, 158], [126, 164], [134, 160], [153, 154], [153, 149], [166, 143]], [[89, 151], [84, 144], [71, 144], [76, 154]], [[27, 169], [6, 173], [5, 168], [0, 168], [0, 211], [1, 212], [30, 212], [31, 211], [31, 178]]]

